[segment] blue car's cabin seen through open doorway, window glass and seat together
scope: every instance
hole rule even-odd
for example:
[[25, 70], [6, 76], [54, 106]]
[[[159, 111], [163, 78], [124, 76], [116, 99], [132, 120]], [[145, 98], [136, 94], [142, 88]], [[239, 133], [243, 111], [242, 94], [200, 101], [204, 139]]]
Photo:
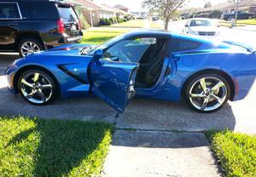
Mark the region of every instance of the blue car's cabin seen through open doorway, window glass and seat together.
[[152, 88], [162, 72], [167, 40], [157, 37], [137, 37], [116, 43], [104, 52], [104, 60], [139, 63], [136, 88]]

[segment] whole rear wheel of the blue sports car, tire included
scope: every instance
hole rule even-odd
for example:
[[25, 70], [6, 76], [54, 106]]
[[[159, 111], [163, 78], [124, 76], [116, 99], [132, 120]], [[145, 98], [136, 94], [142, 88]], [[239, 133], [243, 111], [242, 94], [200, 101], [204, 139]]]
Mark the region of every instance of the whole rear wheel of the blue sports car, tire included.
[[218, 74], [202, 74], [189, 80], [184, 94], [192, 109], [210, 113], [221, 109], [230, 99], [230, 84]]

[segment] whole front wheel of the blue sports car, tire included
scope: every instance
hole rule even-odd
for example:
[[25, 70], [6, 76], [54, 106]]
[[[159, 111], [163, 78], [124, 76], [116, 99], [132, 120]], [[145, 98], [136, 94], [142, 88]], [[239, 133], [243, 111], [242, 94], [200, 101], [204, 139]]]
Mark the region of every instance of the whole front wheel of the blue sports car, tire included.
[[18, 88], [21, 96], [33, 105], [44, 106], [55, 100], [55, 81], [44, 71], [25, 71], [18, 80]]

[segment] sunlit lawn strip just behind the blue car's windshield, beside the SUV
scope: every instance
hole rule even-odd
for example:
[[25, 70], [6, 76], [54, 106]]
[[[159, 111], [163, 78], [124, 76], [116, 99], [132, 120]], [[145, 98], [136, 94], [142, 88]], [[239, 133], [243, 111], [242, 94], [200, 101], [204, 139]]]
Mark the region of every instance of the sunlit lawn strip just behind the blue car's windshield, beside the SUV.
[[84, 38], [81, 43], [100, 44], [108, 41], [112, 37], [119, 36], [129, 30], [125, 29], [108, 29], [108, 28], [96, 28], [93, 30], [84, 31]]

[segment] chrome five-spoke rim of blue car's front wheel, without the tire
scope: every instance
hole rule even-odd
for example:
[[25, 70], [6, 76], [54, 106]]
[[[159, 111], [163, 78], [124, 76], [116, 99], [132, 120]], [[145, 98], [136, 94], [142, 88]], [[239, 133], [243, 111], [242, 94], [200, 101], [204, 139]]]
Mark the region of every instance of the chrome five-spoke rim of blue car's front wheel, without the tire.
[[42, 73], [28, 72], [20, 80], [21, 94], [34, 104], [44, 104], [53, 94], [53, 86]]

